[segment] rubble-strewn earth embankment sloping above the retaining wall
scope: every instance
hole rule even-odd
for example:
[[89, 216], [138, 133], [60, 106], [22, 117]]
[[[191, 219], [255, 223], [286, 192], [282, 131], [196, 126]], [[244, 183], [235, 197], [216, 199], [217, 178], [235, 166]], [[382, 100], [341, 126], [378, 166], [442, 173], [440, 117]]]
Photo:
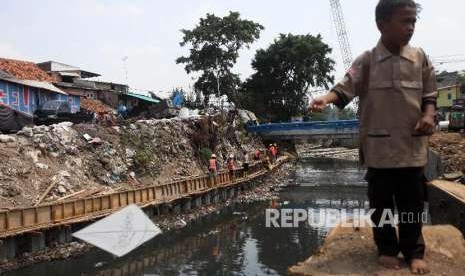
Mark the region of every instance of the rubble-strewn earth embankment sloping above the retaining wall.
[[218, 114], [113, 127], [64, 122], [0, 134], [0, 209], [202, 174], [210, 149], [223, 164], [229, 154], [263, 148], [239, 124]]

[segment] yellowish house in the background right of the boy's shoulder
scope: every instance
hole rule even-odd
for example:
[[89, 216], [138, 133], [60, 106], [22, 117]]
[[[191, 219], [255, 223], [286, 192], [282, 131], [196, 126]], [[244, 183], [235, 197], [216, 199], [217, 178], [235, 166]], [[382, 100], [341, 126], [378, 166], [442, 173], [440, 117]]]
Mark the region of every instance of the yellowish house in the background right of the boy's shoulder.
[[447, 118], [454, 100], [465, 97], [465, 84], [460, 81], [458, 72], [442, 72], [437, 75], [438, 109]]

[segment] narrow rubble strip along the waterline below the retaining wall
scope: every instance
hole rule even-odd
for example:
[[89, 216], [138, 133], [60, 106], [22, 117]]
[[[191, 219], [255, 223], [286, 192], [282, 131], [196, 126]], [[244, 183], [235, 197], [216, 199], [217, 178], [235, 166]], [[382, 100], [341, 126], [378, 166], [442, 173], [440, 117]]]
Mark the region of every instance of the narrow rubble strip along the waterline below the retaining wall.
[[[294, 180], [295, 166], [291, 161], [283, 164], [271, 174], [253, 180], [257, 184], [254, 189], [243, 191], [233, 199], [228, 199], [225, 202], [202, 206], [200, 208], [196, 208], [189, 212], [184, 212], [178, 215], [171, 214], [156, 217], [155, 223], [162, 229], [163, 232], [166, 233], [172, 229], [185, 227], [188, 223], [210, 213], [216, 212], [217, 210], [225, 206], [229, 206], [235, 202], [252, 203], [257, 201], [277, 199], [279, 191], [289, 185], [292, 185]], [[49, 247], [34, 253], [23, 253], [22, 256], [12, 260], [0, 260], [0, 274], [2, 270], [16, 269], [38, 262], [77, 257], [93, 248], [93, 246], [87, 243], [74, 241], [69, 244], [57, 244], [54, 247]]]

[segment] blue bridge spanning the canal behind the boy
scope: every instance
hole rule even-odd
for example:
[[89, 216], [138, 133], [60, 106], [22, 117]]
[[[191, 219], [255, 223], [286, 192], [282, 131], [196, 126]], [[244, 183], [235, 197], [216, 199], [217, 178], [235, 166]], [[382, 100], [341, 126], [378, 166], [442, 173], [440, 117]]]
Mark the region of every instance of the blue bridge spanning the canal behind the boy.
[[358, 120], [270, 123], [248, 126], [247, 131], [270, 140], [358, 139]]

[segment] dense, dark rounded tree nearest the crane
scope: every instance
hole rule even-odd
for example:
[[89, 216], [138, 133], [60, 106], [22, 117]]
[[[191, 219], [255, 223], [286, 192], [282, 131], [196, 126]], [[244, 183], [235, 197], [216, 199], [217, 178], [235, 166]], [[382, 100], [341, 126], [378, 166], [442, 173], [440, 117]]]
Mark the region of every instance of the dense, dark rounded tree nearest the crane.
[[281, 34], [257, 51], [252, 62], [256, 72], [242, 86], [241, 101], [266, 121], [304, 115], [309, 88], [328, 88], [334, 81], [331, 51], [320, 35]]

